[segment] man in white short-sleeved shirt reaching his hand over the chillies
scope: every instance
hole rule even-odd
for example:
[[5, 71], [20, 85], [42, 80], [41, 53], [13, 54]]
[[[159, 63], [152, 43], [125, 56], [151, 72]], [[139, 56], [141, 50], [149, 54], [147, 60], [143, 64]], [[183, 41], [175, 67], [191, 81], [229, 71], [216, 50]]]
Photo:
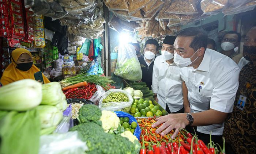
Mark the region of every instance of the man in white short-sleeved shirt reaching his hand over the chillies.
[[162, 136], [176, 129], [174, 138], [179, 128], [198, 126], [197, 135], [204, 143], [209, 142], [211, 134], [214, 143], [221, 144], [223, 122], [233, 110], [240, 70], [229, 57], [206, 50], [207, 34], [198, 28], [182, 30], [173, 46], [174, 62], [181, 68], [181, 77], [188, 88], [191, 113], [162, 116], [152, 127], [163, 123], [156, 130]]

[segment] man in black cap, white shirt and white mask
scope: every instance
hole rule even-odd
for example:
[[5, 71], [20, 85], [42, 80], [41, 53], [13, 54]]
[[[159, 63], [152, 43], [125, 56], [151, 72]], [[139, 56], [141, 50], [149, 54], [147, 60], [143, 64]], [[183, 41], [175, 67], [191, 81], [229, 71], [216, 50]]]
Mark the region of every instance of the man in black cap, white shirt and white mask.
[[168, 113], [184, 113], [180, 68], [173, 62], [173, 43], [176, 36], [166, 36], [162, 55], [155, 58], [152, 91], [155, 100]]

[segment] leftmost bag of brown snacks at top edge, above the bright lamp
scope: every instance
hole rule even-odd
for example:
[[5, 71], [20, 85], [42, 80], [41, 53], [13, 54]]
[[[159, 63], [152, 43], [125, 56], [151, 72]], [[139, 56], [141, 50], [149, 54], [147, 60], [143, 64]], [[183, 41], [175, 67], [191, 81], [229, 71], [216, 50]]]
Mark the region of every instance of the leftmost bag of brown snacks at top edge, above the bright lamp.
[[128, 11], [128, 4], [125, 0], [106, 0], [105, 5], [112, 10]]

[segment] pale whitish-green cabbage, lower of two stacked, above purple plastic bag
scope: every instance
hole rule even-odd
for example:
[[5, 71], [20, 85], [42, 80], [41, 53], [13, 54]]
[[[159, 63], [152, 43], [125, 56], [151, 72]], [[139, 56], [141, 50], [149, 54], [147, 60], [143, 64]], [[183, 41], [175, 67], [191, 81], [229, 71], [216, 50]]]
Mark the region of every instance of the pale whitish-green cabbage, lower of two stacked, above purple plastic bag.
[[62, 120], [62, 112], [51, 105], [39, 105], [36, 107], [39, 112], [41, 128], [56, 126]]

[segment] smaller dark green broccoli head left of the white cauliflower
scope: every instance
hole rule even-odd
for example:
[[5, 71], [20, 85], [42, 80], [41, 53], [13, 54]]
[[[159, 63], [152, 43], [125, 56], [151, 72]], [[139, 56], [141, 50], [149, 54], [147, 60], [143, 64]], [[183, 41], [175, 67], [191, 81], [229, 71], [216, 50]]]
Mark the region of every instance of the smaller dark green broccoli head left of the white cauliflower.
[[96, 122], [101, 118], [101, 109], [96, 105], [86, 104], [79, 109], [79, 121], [81, 123]]

